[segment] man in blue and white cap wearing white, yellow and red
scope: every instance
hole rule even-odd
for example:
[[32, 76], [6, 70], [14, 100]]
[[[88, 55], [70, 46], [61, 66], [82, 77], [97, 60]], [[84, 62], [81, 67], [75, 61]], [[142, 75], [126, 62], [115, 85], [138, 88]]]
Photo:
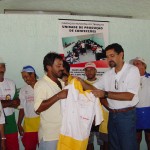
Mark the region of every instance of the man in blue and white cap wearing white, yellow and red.
[[[18, 118], [18, 130], [22, 136], [22, 143], [25, 150], [36, 150], [38, 145], [38, 129], [40, 117], [34, 111], [34, 85], [37, 82], [37, 75], [32, 66], [24, 66], [21, 75], [26, 85], [19, 93], [20, 111]], [[22, 127], [22, 121], [24, 125]]]

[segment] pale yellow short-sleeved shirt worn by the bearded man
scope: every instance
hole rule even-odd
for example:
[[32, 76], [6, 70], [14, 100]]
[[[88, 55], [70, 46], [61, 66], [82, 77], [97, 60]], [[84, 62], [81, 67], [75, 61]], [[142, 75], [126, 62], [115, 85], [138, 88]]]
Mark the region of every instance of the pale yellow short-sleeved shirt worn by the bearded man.
[[[60, 80], [62, 87], [64, 83]], [[39, 108], [43, 100], [49, 99], [60, 92], [61, 89], [47, 75], [39, 80], [34, 87], [34, 109]], [[39, 141], [58, 140], [61, 127], [60, 101], [40, 114]]]

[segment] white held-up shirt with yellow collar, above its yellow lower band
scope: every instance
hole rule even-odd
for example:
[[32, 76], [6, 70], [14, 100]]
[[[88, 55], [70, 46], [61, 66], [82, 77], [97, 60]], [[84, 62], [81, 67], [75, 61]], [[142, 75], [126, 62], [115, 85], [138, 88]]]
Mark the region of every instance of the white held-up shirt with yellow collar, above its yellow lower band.
[[103, 121], [101, 105], [91, 92], [82, 90], [81, 83], [76, 79], [65, 89], [68, 89], [68, 95], [61, 100], [61, 134], [82, 141], [89, 137], [94, 116], [95, 125]]

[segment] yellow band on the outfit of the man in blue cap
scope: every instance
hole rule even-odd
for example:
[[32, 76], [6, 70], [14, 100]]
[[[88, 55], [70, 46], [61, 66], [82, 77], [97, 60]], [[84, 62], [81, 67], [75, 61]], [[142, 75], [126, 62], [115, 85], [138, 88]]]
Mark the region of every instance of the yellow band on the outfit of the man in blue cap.
[[39, 130], [40, 117], [24, 118], [23, 129], [25, 132], [37, 132]]

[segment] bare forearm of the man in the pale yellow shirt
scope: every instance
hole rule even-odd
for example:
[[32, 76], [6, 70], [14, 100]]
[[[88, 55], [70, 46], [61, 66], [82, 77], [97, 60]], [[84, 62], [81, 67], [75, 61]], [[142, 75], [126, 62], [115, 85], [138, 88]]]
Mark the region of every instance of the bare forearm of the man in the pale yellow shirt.
[[42, 101], [41, 105], [39, 106], [39, 108], [36, 110], [37, 114], [40, 114], [41, 112], [47, 110], [48, 108], [50, 108], [54, 103], [56, 103], [59, 100], [59, 94], [55, 94], [54, 96], [52, 96], [51, 98]]

